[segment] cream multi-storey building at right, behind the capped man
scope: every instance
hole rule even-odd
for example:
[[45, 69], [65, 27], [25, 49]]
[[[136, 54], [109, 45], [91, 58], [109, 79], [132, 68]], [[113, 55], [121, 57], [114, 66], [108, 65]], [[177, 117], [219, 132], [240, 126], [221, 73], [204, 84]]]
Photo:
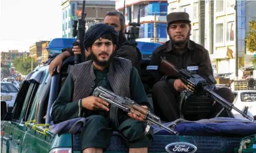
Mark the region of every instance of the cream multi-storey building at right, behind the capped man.
[[[235, 52], [238, 49], [238, 68], [250, 65], [253, 55], [246, 52], [245, 37], [249, 21], [255, 20], [255, 1], [169, 0], [168, 13], [188, 12], [192, 21], [191, 40], [208, 49], [214, 73], [233, 73], [235, 76]], [[236, 20], [237, 15], [237, 20]], [[236, 46], [237, 22], [237, 46]], [[254, 54], [254, 53], [252, 53]], [[240, 74], [241, 76], [241, 71]]]

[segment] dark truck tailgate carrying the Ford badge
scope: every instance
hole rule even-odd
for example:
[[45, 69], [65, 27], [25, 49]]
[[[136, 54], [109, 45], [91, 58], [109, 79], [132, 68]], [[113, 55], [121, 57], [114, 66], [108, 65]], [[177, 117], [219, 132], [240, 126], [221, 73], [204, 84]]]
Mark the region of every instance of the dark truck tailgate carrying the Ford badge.
[[[234, 148], [238, 148], [242, 137], [210, 137], [210, 136], [176, 136], [176, 135], [154, 135], [152, 146], [148, 148], [148, 152], [167, 152], [166, 146], [171, 143], [189, 143], [196, 146], [196, 150], [191, 145], [176, 146], [176, 150], [180, 152], [202, 152], [202, 153], [216, 153], [216, 152], [234, 152]], [[175, 145], [175, 144], [174, 144]], [[175, 148], [175, 146], [174, 146]], [[171, 149], [171, 148], [169, 148]], [[183, 151], [182, 151], [183, 149]], [[186, 150], [185, 150], [186, 149]], [[81, 151], [81, 141], [79, 134], [73, 135], [73, 151]], [[111, 144], [106, 152], [127, 152], [125, 142], [117, 134], [113, 133]]]

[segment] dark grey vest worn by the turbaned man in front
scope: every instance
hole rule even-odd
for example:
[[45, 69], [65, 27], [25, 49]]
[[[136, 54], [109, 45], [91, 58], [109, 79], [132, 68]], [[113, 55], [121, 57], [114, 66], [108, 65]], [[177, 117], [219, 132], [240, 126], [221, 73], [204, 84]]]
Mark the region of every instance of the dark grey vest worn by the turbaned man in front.
[[[115, 57], [109, 66], [108, 80], [114, 93], [123, 97], [130, 98], [130, 74], [132, 65], [130, 60]], [[86, 98], [92, 94], [95, 86], [95, 74], [93, 71], [92, 60], [73, 65], [70, 68], [70, 74], [74, 81], [73, 101]], [[110, 118], [116, 126], [117, 108], [110, 109]]]

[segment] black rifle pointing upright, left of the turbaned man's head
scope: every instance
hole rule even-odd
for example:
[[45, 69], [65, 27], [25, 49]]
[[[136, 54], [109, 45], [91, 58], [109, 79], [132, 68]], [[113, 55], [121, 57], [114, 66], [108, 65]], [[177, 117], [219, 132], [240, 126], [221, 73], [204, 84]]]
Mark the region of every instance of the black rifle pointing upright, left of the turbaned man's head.
[[[77, 40], [80, 40], [80, 42], [78, 43], [77, 41], [75, 41], [73, 43], [74, 46], [79, 45], [81, 48], [81, 55], [79, 54], [75, 54], [75, 64], [84, 62], [86, 60], [86, 55], [84, 54], [84, 34], [86, 31], [86, 13], [84, 13], [84, 8], [86, 5], [86, 1], [82, 1], [82, 13], [81, 13], [81, 18], [77, 21], [74, 20], [74, 24], [73, 24], [73, 37], [76, 37]], [[77, 30], [78, 27], [78, 30]]]

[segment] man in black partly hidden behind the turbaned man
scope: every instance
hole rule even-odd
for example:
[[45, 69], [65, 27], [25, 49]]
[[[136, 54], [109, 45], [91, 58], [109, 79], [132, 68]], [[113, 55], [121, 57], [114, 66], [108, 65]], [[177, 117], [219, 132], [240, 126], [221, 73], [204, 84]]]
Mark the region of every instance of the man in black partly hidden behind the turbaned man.
[[[136, 44], [128, 42], [125, 38], [125, 17], [122, 15], [122, 13], [117, 11], [108, 12], [104, 18], [103, 23], [113, 26], [119, 33], [119, 44], [117, 44], [115, 57], [123, 57], [125, 59], [131, 60], [133, 66], [137, 68], [138, 71], [140, 71], [142, 55], [141, 52], [136, 48]], [[88, 57], [90, 52], [85, 52], [86, 57]], [[49, 65], [49, 73], [53, 75], [53, 70], [56, 67], [57, 72], [59, 72], [62, 65], [62, 60], [73, 56], [74, 54], [81, 54], [81, 49], [79, 46], [73, 46], [73, 49], [65, 49], [61, 54], [57, 55], [57, 57]], [[89, 59], [87, 58], [87, 60]]]

